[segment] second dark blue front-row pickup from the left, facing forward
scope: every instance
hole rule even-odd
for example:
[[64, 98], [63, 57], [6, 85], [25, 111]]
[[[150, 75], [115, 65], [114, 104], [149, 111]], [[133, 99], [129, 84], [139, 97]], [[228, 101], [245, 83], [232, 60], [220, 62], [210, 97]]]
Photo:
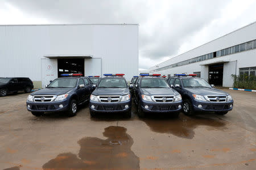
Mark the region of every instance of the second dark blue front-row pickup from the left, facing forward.
[[131, 94], [124, 74], [104, 74], [90, 95], [90, 116], [96, 113], [123, 112], [131, 117]]

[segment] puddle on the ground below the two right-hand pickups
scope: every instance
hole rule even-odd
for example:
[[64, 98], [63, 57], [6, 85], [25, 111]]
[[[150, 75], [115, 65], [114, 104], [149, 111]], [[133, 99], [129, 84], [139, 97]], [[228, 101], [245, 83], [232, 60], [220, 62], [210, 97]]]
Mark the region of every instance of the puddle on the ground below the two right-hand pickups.
[[192, 139], [195, 135], [193, 131], [197, 126], [208, 126], [208, 128], [225, 129], [226, 122], [213, 118], [193, 116], [188, 117], [180, 113], [179, 118], [167, 118], [159, 115], [149, 115], [141, 119], [152, 131], [158, 133], [169, 133], [180, 138]]

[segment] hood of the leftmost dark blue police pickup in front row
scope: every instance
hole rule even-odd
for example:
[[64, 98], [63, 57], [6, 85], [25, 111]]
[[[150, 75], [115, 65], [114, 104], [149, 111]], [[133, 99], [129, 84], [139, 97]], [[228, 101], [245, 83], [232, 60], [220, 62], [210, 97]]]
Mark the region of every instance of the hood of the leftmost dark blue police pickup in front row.
[[63, 95], [67, 94], [67, 92], [71, 90], [73, 90], [73, 88], [44, 88], [42, 90], [32, 92], [31, 95]]

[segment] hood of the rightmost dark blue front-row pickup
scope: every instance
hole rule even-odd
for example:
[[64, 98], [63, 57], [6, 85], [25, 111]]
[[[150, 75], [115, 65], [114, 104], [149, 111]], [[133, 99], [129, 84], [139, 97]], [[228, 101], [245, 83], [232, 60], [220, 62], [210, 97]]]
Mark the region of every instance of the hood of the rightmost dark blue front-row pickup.
[[217, 88], [185, 88], [185, 90], [196, 95], [229, 95], [228, 93], [218, 90]]

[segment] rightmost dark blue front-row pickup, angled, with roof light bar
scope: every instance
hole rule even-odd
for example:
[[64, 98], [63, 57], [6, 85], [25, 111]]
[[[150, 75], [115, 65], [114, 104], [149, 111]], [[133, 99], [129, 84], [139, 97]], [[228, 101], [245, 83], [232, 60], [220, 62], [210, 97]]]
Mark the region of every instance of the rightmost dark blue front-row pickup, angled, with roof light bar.
[[183, 99], [183, 113], [192, 115], [196, 111], [213, 111], [226, 114], [233, 108], [233, 99], [227, 92], [213, 88], [202, 78], [194, 74], [176, 74], [168, 83], [178, 91]]

